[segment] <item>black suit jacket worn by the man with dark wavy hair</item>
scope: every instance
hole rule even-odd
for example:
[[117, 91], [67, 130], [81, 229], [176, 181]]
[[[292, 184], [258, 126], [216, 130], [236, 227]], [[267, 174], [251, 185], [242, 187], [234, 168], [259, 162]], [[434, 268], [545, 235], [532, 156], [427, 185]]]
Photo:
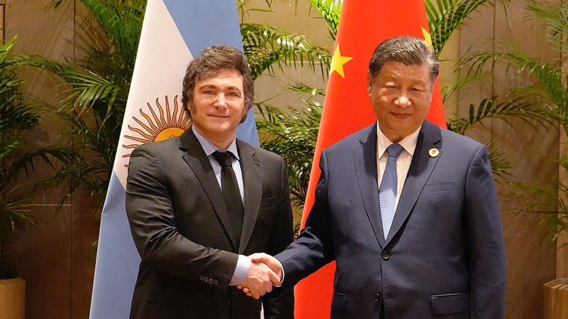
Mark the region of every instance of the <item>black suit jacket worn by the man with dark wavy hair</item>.
[[[240, 242], [191, 130], [132, 152], [126, 211], [141, 257], [132, 319], [260, 317], [260, 300], [228, 284], [237, 254], [276, 254], [293, 240], [288, 179], [282, 157], [240, 140], [237, 150], [245, 189]], [[291, 289], [262, 303], [266, 318], [293, 317]]]

